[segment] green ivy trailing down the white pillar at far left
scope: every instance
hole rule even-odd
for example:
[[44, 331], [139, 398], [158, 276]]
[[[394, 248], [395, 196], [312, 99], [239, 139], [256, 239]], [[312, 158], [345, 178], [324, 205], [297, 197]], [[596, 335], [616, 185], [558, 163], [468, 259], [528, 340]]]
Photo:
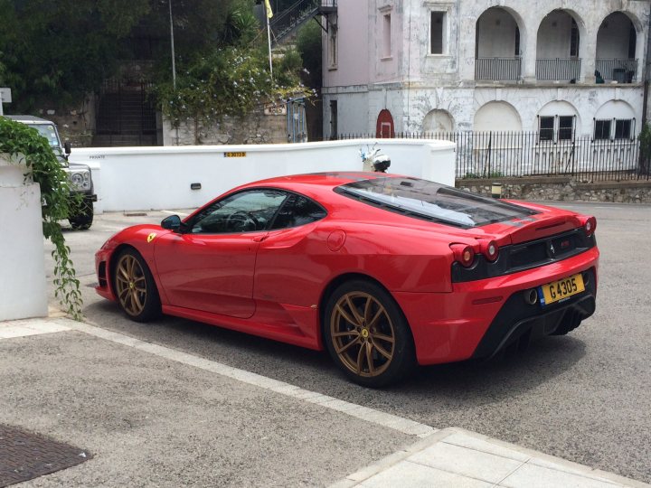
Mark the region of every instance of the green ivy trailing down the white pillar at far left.
[[8, 155], [10, 162], [25, 164], [29, 170], [25, 178], [31, 175], [33, 182], [41, 186], [42, 233], [54, 245], [54, 296], [72, 318], [81, 320], [80, 282], [59, 223], [81, 204], [81, 197], [71, 194], [68, 175], [47, 139], [35, 129], [0, 117], [0, 154]]

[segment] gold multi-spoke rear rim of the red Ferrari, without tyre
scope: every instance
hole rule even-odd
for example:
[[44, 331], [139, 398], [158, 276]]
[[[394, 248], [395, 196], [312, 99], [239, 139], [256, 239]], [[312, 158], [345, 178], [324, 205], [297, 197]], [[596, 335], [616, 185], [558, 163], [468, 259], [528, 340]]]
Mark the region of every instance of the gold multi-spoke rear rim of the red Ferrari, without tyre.
[[354, 291], [339, 298], [330, 317], [330, 334], [339, 359], [358, 376], [379, 376], [392, 363], [393, 323], [373, 295]]

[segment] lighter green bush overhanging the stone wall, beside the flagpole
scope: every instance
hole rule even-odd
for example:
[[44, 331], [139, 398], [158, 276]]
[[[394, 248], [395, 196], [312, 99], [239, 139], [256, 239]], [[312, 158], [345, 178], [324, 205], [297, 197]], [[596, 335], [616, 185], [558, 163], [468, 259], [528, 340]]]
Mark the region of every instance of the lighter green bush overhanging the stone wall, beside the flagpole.
[[195, 144], [201, 144], [199, 127], [223, 116], [242, 115], [264, 102], [307, 94], [298, 76], [302, 61], [296, 50], [274, 59], [271, 77], [266, 40], [260, 35], [253, 5], [253, 0], [234, 0], [221, 43], [181, 60], [176, 88], [171, 80], [156, 84], [165, 116], [176, 127], [192, 122]]

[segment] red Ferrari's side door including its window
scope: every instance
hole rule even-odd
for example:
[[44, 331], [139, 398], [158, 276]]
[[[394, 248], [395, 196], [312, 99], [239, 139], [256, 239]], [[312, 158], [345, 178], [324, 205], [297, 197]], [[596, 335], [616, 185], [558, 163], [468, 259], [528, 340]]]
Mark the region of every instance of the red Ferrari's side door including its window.
[[259, 242], [286, 198], [278, 190], [237, 192], [198, 211], [181, 232], [157, 239], [156, 268], [170, 305], [240, 318], [254, 314]]

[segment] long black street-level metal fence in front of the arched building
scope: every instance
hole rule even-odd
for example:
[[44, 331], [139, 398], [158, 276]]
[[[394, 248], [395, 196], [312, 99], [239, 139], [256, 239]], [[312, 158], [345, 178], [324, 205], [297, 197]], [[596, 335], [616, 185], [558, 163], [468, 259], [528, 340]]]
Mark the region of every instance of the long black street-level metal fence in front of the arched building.
[[576, 136], [548, 141], [541, 140], [538, 132], [401, 133], [396, 137], [454, 142], [458, 178], [562, 175], [590, 182], [651, 181], [651, 162], [640, 154], [637, 137], [595, 140]]

